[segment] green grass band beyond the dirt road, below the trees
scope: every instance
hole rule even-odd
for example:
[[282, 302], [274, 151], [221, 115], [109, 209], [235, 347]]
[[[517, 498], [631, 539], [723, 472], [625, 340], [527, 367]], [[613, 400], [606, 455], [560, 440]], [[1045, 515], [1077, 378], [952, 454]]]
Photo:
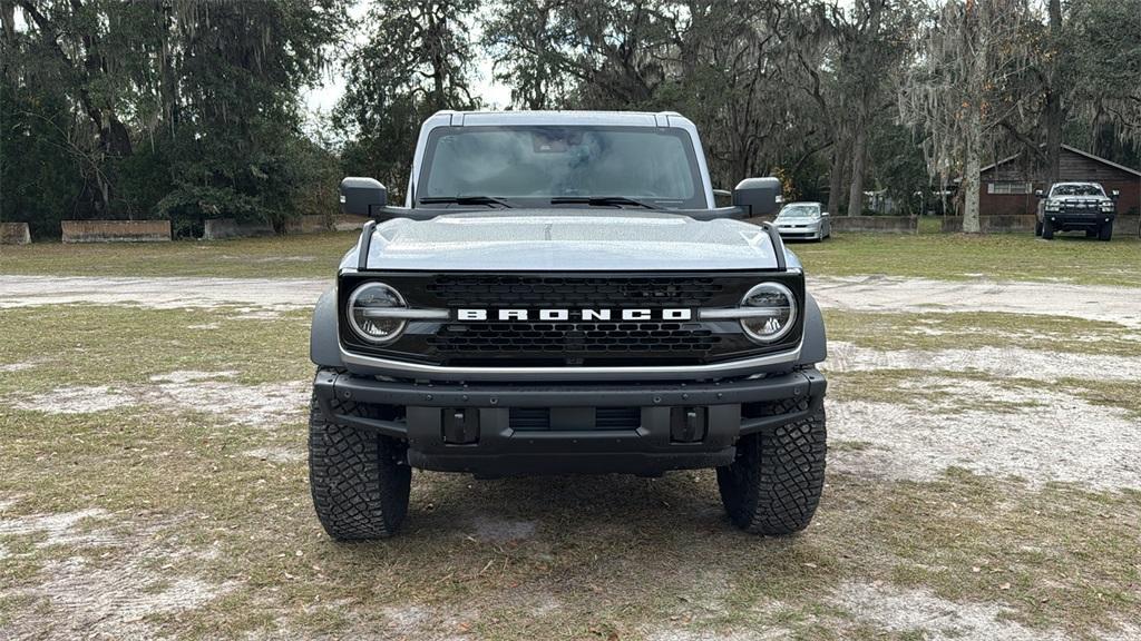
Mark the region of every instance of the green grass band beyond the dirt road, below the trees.
[[[155, 244], [0, 246], [0, 274], [327, 278], [355, 233]], [[816, 276], [1065, 281], [1141, 287], [1141, 241], [1028, 234], [842, 234], [791, 245]]]

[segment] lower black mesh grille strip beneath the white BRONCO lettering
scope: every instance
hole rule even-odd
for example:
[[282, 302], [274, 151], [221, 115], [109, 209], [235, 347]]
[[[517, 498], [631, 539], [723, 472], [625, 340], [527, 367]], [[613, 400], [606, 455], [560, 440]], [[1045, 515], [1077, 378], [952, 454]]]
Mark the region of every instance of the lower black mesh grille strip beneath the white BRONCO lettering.
[[706, 354], [721, 336], [699, 323], [447, 323], [428, 339], [440, 354]]

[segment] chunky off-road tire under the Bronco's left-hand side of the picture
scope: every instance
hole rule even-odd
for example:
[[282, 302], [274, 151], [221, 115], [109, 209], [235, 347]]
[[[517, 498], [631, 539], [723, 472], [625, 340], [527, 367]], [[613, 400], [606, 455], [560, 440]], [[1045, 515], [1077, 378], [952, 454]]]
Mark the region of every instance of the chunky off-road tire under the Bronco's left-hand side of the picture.
[[309, 408], [309, 489], [317, 519], [340, 541], [388, 538], [408, 512], [412, 469], [404, 445], [348, 425], [330, 423]]

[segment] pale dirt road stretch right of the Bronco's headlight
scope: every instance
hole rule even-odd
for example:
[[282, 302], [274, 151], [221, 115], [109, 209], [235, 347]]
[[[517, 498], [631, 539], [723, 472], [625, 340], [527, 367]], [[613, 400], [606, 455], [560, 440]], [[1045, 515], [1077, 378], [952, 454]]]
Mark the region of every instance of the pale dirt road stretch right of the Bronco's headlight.
[[808, 290], [831, 309], [1045, 314], [1141, 327], [1141, 289], [1133, 287], [852, 276], [809, 278]]

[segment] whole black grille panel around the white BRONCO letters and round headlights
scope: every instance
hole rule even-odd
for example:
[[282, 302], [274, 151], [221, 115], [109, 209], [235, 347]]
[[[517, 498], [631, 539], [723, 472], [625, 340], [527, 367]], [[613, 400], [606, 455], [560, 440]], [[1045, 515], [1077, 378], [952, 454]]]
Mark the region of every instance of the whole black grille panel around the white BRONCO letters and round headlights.
[[[341, 276], [340, 305], [361, 281], [379, 279], [396, 287], [408, 307], [446, 309], [448, 320], [410, 322], [387, 346], [361, 341], [341, 323], [341, 340], [354, 351], [454, 367], [674, 366], [699, 365], [787, 349], [759, 346], [736, 320], [701, 320], [702, 308], [739, 305], [761, 281], [779, 281], [803, 295], [799, 274], [382, 274]], [[459, 320], [458, 310], [478, 309], [492, 320]], [[495, 320], [501, 310], [525, 310], [528, 319]], [[539, 320], [542, 309], [566, 310], [567, 320]], [[648, 319], [621, 319], [623, 310], [649, 310]], [[664, 318], [662, 310], [690, 311], [688, 320]], [[600, 320], [583, 310], [606, 310]], [[801, 308], [803, 310], [803, 308]]]

